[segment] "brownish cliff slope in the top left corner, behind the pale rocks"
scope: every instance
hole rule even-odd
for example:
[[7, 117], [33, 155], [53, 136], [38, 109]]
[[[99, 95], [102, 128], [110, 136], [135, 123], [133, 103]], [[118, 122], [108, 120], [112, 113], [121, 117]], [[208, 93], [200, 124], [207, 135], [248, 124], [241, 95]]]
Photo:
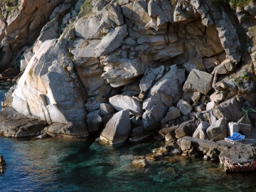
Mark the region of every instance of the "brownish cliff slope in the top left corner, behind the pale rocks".
[[[12, 58], [26, 46], [32, 44], [40, 33], [41, 28], [46, 24], [50, 14], [56, 6], [63, 1], [21, 1], [18, 8], [11, 9], [6, 22], [8, 25], [0, 31], [1, 52], [0, 68], [6, 70]], [[3, 7], [4, 8], [4, 7]], [[11, 47], [10, 47], [11, 46]]]

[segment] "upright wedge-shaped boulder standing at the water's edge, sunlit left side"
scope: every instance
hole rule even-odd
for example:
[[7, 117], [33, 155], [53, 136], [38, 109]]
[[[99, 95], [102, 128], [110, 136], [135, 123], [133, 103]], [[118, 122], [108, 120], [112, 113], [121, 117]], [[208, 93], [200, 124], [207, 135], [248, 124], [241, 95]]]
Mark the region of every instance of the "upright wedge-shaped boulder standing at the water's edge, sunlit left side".
[[129, 110], [122, 110], [114, 114], [103, 129], [100, 139], [106, 144], [116, 144], [124, 142], [131, 132]]

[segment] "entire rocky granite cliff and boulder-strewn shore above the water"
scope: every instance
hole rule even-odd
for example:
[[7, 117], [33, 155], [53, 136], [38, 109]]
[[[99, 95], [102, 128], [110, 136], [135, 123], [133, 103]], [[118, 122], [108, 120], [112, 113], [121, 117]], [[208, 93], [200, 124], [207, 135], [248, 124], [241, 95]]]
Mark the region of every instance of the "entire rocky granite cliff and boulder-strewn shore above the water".
[[105, 144], [117, 144], [159, 132], [186, 156], [255, 159], [254, 144], [223, 140], [255, 129], [255, 113], [245, 110], [256, 105], [253, 1], [0, 5], [0, 78], [17, 75], [1, 103], [0, 135], [99, 133]]

